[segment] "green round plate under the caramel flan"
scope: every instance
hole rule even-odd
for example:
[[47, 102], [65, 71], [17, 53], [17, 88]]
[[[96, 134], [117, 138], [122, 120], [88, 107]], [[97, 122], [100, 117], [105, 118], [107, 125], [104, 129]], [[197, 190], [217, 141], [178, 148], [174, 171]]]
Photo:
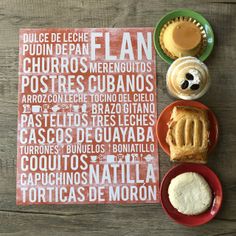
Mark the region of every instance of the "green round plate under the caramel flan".
[[206, 38], [207, 38], [207, 45], [202, 52], [199, 59], [201, 61], [205, 61], [207, 57], [210, 55], [213, 46], [214, 46], [214, 33], [211, 28], [211, 25], [209, 22], [199, 13], [189, 10], [189, 9], [177, 9], [175, 11], [169, 12], [167, 15], [165, 15], [156, 25], [155, 31], [154, 31], [154, 46], [159, 54], [159, 56], [166, 61], [168, 64], [171, 64], [174, 60], [170, 58], [168, 55], [165, 54], [165, 52], [162, 50], [160, 42], [159, 42], [159, 35], [161, 32], [162, 27], [170, 20], [177, 18], [177, 17], [191, 17], [198, 21], [204, 28], [206, 32]]

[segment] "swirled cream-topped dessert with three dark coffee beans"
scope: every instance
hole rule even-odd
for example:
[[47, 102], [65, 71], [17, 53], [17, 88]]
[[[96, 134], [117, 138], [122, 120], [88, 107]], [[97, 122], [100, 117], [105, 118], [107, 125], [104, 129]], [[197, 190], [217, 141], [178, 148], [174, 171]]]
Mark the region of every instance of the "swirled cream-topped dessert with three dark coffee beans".
[[202, 97], [210, 86], [207, 66], [196, 57], [181, 57], [169, 67], [166, 86], [171, 96], [184, 100]]

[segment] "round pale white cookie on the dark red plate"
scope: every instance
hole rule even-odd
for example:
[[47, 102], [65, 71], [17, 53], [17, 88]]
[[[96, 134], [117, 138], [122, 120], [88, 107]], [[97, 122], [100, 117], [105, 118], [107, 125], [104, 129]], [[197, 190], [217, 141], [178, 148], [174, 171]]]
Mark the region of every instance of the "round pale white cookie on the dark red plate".
[[185, 215], [199, 215], [212, 203], [209, 184], [195, 172], [186, 172], [173, 178], [168, 194], [172, 206]]

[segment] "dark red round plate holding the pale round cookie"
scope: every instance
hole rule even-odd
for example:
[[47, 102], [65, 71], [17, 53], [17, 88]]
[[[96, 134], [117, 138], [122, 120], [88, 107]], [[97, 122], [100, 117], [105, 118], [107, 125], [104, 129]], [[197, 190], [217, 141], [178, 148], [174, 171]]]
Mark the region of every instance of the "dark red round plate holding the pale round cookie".
[[[180, 175], [185, 172], [196, 172], [202, 175], [211, 187], [213, 194], [212, 205], [207, 211], [200, 215], [188, 216], [181, 214], [171, 205], [169, 201], [168, 187], [170, 181], [177, 175]], [[206, 165], [202, 164], [180, 164], [174, 166], [166, 173], [162, 180], [160, 195], [162, 207], [168, 214], [168, 216], [171, 219], [175, 220], [177, 223], [186, 226], [198, 226], [212, 220], [217, 214], [217, 212], [220, 210], [223, 199], [222, 187], [218, 177], [211, 169], [209, 169]]]

